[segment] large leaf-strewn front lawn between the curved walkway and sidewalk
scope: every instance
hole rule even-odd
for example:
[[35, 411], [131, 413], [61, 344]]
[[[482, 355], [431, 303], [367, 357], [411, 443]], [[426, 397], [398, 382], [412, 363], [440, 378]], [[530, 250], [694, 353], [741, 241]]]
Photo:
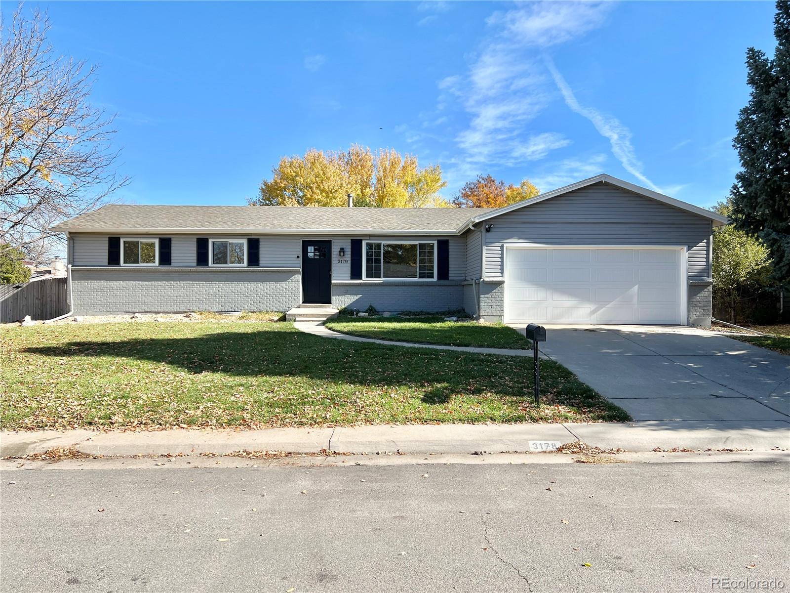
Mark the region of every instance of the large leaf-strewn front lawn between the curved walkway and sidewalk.
[[622, 421], [566, 368], [342, 342], [292, 323], [0, 328], [0, 428]]

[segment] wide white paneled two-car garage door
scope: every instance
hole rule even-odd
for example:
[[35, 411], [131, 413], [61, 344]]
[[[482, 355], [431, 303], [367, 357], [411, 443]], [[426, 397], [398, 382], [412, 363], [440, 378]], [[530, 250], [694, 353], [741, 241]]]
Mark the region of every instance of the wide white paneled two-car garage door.
[[683, 250], [507, 247], [509, 323], [681, 324]]

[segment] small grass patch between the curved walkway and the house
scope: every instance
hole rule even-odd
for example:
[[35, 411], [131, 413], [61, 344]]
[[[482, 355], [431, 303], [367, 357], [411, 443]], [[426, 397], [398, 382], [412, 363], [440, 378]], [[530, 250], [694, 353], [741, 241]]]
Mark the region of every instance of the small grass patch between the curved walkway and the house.
[[531, 346], [524, 335], [502, 323], [445, 321], [444, 317], [338, 317], [325, 325], [341, 334], [393, 342], [510, 349]]

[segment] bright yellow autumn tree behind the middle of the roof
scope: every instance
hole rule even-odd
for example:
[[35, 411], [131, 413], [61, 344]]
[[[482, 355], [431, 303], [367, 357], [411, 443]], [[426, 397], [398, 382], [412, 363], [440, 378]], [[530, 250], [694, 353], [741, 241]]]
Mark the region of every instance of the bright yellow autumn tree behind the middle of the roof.
[[438, 164], [420, 168], [417, 157], [394, 149], [352, 145], [346, 151], [310, 149], [282, 157], [271, 179], [261, 182], [258, 206], [355, 206], [423, 208], [448, 206], [439, 194], [447, 183]]

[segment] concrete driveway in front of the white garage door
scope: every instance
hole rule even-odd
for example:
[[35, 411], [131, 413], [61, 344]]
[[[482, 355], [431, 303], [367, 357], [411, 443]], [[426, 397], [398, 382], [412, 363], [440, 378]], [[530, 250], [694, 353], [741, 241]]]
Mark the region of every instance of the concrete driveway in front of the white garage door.
[[546, 329], [541, 351], [634, 420], [790, 423], [788, 356], [690, 327]]

